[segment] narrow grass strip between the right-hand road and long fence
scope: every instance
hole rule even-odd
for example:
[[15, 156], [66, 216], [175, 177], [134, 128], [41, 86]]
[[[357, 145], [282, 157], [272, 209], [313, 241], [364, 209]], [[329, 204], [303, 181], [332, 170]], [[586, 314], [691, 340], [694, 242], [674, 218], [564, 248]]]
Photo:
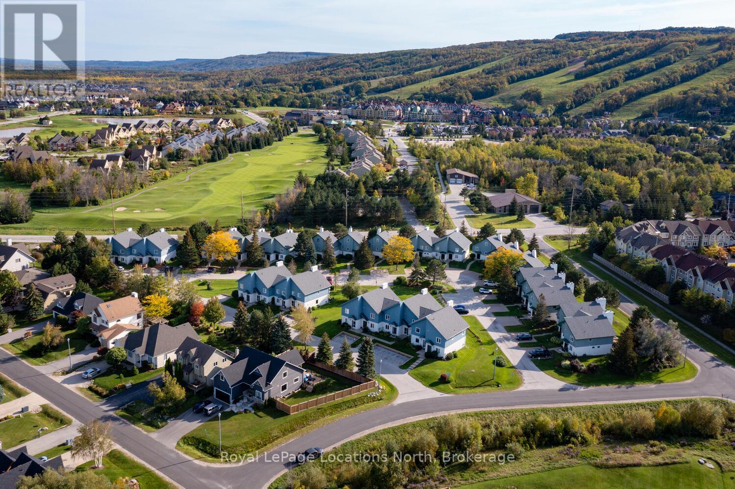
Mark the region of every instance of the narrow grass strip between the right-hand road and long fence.
[[578, 264], [583, 265], [590, 272], [598, 276], [601, 280], [612, 283], [614, 286], [617, 287], [620, 293], [625, 294], [625, 297], [628, 297], [628, 299], [634, 301], [638, 305], [647, 305], [653, 315], [661, 319], [661, 321], [677, 322], [679, 325], [679, 330], [681, 330], [681, 333], [684, 334], [684, 336], [691, 339], [692, 341], [695, 341], [695, 343], [697, 343], [707, 352], [711, 353], [711, 355], [720, 358], [720, 360], [725, 361], [730, 365], [735, 365], [735, 354], [733, 354], [728, 349], [725, 349], [723, 347], [723, 344], [721, 344], [719, 341], [714, 341], [711, 338], [704, 336], [698, 330], [695, 330], [689, 325], [686, 325], [686, 323], [681, 322], [680, 319], [672, 314], [668, 307], [665, 307], [664, 305], [661, 305], [661, 303], [650, 299], [648, 294], [645, 294], [645, 292], [640, 291], [636, 287], [629, 285], [623, 279], [619, 278], [617, 275], [614, 275], [614, 273], [600, 267], [598, 264], [592, 261], [592, 259], [589, 258], [589, 255], [587, 255], [587, 253], [584, 253], [584, 251], [582, 251], [579, 246], [575, 245], [571, 247], [570, 250], [567, 250], [567, 242], [563, 239], [548, 239], [548, 237], [545, 237], [544, 240], [549, 245], [555, 247], [556, 250], [564, 251], [564, 253], [569, 256], [569, 258], [571, 258], [573, 261], [576, 261]]

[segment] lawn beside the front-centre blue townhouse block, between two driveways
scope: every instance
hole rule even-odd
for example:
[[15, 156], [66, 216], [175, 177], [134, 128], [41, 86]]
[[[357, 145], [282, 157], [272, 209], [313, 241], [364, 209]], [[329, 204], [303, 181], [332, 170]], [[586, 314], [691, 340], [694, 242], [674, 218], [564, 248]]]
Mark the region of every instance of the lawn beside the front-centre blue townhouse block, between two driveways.
[[[467, 331], [466, 346], [457, 352], [457, 358], [450, 361], [426, 358], [409, 372], [411, 377], [436, 391], [449, 394], [476, 394], [501, 389], [508, 391], [520, 387], [520, 375], [500, 348], [495, 352], [495, 341], [492, 341], [490, 333], [487, 333], [476, 317], [464, 316], [464, 319], [470, 325], [470, 330], [479, 336], [481, 343], [475, 335]], [[506, 358], [507, 364], [495, 369], [495, 380], [492, 380], [493, 352]], [[442, 382], [442, 374], [449, 374], [450, 381]]]

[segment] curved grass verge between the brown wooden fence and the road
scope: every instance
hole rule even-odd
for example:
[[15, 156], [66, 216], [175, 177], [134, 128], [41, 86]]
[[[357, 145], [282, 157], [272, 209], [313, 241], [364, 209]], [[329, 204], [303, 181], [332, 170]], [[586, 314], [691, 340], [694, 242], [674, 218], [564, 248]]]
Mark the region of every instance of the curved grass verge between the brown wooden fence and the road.
[[[381, 385], [381, 399], [374, 400], [368, 397], [370, 391], [365, 391], [290, 416], [276, 408], [262, 408], [254, 413], [222, 413], [222, 449], [230, 454], [262, 451], [349, 414], [390, 404], [398, 391], [386, 380], [382, 380]], [[220, 462], [219, 457], [215, 457], [219, 452], [218, 443], [218, 419], [214, 417], [185, 435], [176, 448], [191, 457]]]

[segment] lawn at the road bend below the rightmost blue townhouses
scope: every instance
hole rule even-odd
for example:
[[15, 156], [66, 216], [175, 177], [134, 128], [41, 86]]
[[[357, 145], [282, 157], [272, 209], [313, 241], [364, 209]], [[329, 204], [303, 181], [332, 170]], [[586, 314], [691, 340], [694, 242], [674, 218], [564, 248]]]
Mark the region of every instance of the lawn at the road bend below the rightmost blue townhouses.
[[612, 372], [610, 369], [607, 355], [599, 357], [583, 357], [579, 361], [585, 366], [595, 362], [600, 368], [595, 374], [583, 374], [563, 369], [561, 362], [564, 360], [562, 355], [553, 352], [552, 358], [539, 358], [534, 360], [539, 369], [555, 379], [563, 380], [570, 384], [577, 385], [633, 385], [633, 384], [663, 384], [674, 383], [689, 380], [697, 374], [697, 367], [694, 363], [686, 361], [686, 363], [675, 366], [670, 369], [661, 370], [661, 372], [642, 372], [638, 377], [626, 377]]

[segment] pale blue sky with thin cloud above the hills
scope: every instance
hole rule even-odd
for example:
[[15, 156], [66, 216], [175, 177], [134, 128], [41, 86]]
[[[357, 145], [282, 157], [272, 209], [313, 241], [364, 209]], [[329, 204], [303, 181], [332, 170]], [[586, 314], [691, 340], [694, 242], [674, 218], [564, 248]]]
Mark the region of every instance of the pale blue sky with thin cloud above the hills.
[[86, 0], [85, 58], [364, 53], [590, 30], [735, 27], [731, 1]]

